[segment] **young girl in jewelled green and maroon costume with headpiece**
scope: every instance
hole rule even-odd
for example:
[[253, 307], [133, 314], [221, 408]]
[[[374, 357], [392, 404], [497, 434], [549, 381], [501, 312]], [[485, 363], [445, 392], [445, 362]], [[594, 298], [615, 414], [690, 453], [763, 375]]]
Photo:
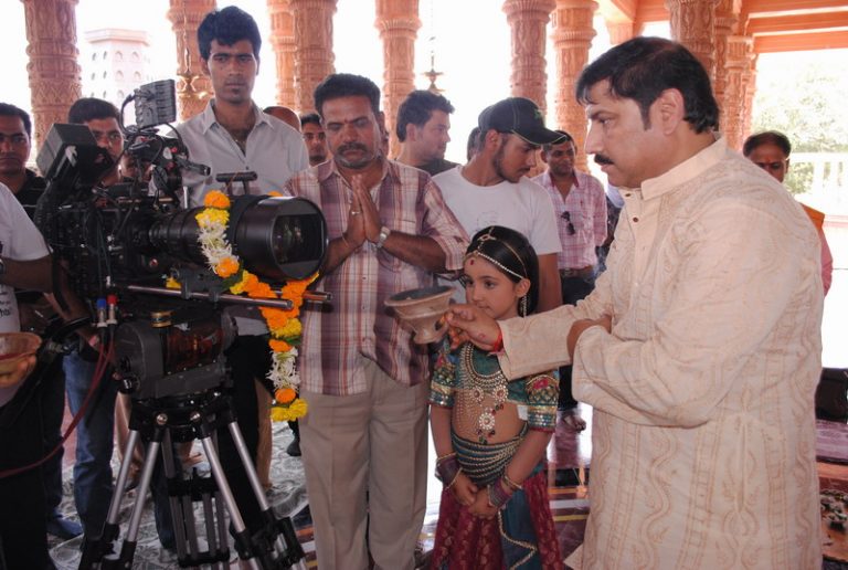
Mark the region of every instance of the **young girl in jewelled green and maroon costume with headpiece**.
[[[536, 308], [539, 265], [521, 233], [477, 232], [463, 270], [466, 302], [489, 316]], [[544, 468], [558, 386], [553, 372], [508, 382], [495, 355], [443, 342], [430, 395], [444, 485], [432, 568], [563, 568]]]

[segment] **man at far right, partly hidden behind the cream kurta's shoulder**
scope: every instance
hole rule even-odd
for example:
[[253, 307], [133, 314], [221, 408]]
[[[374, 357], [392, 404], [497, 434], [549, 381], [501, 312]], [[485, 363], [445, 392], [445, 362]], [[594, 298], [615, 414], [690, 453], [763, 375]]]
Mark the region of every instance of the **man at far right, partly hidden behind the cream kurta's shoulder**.
[[[788, 137], [776, 130], [765, 130], [751, 135], [742, 145], [742, 154], [753, 163], [768, 172], [772, 178], [783, 183], [786, 172], [789, 171], [789, 155], [792, 154], [792, 144]], [[813, 225], [816, 226], [818, 239], [822, 241], [822, 284], [825, 286], [825, 295], [830, 289], [830, 282], [834, 277], [834, 256], [830, 254], [830, 246], [827, 244], [825, 232], [822, 225], [825, 222], [825, 214], [818, 210], [801, 204]]]

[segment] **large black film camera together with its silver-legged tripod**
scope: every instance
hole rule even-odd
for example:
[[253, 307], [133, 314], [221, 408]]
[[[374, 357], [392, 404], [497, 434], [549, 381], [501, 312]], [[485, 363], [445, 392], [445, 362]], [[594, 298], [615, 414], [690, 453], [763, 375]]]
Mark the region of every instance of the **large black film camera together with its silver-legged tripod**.
[[[83, 125], [53, 125], [38, 156], [47, 188], [36, 207], [35, 223], [54, 258], [66, 268], [73, 294], [87, 305], [92, 320], [106, 339], [104, 344], [114, 347], [116, 376], [121, 390], [132, 398], [126, 447], [130, 453], [125, 457], [131, 456], [142, 435], [149, 442], [124, 548], [119, 555], [113, 553], [113, 542], [119, 536], [118, 507], [128, 462], [121, 465], [106, 527], [99, 537], [86, 537], [80, 567], [131, 564], [138, 531], [135, 517], [140, 516], [153, 465], [165, 450], [181, 566], [229, 560], [222, 524], [206, 525], [208, 529], [218, 529], [216, 536], [208, 537], [208, 551], [199, 551], [193, 536], [195, 525], [186, 497], [192, 502], [211, 497], [203, 499], [206, 520], [218, 517], [220, 521], [221, 510], [211, 504], [212, 499], [223, 500], [244, 560], [257, 568], [289, 568], [299, 563], [303, 550], [290, 520], [272, 514], [229, 399], [220, 388], [227, 377], [224, 350], [236, 334], [222, 305], [290, 308], [292, 303], [230, 295], [223, 279], [206, 266], [195, 220], [201, 209], [188, 208], [182, 175], [208, 175], [209, 169], [190, 160], [176, 130], [174, 136], [162, 136], [158, 130], [176, 118], [173, 82], [156, 82], [136, 89], [124, 107], [130, 101], [135, 101], [137, 125], [121, 125], [126, 139], [121, 158], [132, 163], [134, 178], [109, 187], [100, 183], [115, 162]], [[232, 198], [226, 239], [245, 267], [272, 285], [314, 274], [327, 247], [324, 217], [314, 203], [298, 198]], [[165, 286], [168, 276], [180, 284], [179, 289]], [[321, 300], [320, 295], [316, 298]], [[267, 520], [258, 537], [245, 528], [218, 460], [212, 437], [221, 428], [229, 429], [240, 447]], [[203, 445], [213, 482], [205, 481], [209, 477], [183, 481], [181, 471], [172, 464], [169, 442], [192, 439]]]

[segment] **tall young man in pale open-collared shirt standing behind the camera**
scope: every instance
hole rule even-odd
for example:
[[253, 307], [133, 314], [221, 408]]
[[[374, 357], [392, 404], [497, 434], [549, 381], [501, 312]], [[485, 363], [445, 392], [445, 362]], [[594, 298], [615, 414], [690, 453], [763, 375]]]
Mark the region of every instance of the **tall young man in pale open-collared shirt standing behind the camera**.
[[[252, 99], [259, 67], [262, 39], [254, 19], [235, 7], [212, 11], [198, 29], [201, 68], [212, 81], [215, 97], [200, 115], [179, 125], [177, 130], [189, 149], [191, 160], [211, 168], [209, 176], [184, 172], [191, 205], [203, 203], [221, 172], [254, 171], [251, 193], [278, 190], [296, 172], [307, 168], [306, 147], [300, 135], [259, 110]], [[243, 193], [234, 184], [232, 193]], [[227, 351], [232, 370], [231, 395], [239, 426], [255, 462], [258, 441], [258, 411], [254, 380], [264, 381], [271, 363], [267, 327], [255, 307], [233, 310], [239, 338]], [[253, 532], [262, 526], [258, 503], [224, 426], [219, 430], [219, 454], [227, 482]]]

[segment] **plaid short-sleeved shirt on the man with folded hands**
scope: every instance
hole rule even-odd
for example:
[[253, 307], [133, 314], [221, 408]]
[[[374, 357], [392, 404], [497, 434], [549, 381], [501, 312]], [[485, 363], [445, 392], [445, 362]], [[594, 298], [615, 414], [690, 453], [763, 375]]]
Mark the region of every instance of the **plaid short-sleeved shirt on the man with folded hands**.
[[[283, 192], [315, 202], [327, 220], [330, 240], [347, 230], [353, 190], [335, 161], [299, 172]], [[430, 175], [385, 160], [382, 179], [370, 192], [386, 228], [435, 240], [445, 252], [446, 267], [462, 267], [468, 235]], [[318, 288], [332, 294], [332, 307], [304, 305], [298, 358], [301, 388], [329, 395], [362, 393], [363, 358], [375, 361], [401, 384], [415, 386], [427, 380], [426, 345], [412, 341], [411, 331], [401, 327], [384, 302], [395, 293], [434, 284], [432, 273], [402, 262], [370, 242], [322, 275]]]

